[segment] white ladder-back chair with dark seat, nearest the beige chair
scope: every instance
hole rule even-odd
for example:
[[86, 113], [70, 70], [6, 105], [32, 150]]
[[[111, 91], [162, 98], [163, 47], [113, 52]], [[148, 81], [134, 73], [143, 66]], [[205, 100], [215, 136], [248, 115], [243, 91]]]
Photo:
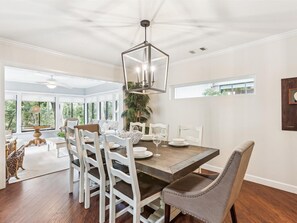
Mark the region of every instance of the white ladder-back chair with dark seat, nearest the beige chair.
[[[115, 142], [126, 148], [126, 156], [113, 152], [109, 142]], [[110, 214], [109, 222], [115, 222], [115, 197], [121, 198], [128, 206], [128, 211], [133, 215], [133, 223], [148, 222], [141, 216], [141, 208], [160, 198], [162, 188], [167, 183], [136, 171], [133, 146], [130, 138], [122, 139], [113, 135], [104, 135], [104, 151], [106, 165], [110, 179]], [[112, 163], [120, 162], [128, 167], [128, 174], [117, 170]], [[121, 181], [116, 182], [116, 178]]]

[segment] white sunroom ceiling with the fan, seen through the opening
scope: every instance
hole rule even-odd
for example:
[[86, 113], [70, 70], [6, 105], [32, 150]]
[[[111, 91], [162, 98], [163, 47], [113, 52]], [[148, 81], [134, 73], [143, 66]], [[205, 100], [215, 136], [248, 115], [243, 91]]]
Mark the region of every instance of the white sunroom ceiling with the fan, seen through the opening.
[[[15, 67], [5, 67], [5, 81], [39, 84], [39, 82], [45, 82], [48, 79], [53, 78], [58, 83], [63, 83], [69, 88], [90, 88], [101, 84], [109, 83], [106, 81], [99, 81], [81, 77], [67, 76], [49, 72], [39, 72], [34, 70], [27, 70]], [[116, 83], [115, 83], [116, 84]]]

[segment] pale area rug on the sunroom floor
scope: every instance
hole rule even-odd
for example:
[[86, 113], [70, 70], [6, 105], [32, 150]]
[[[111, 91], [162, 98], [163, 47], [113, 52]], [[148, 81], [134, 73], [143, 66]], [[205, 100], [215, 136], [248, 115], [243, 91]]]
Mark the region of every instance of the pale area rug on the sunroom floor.
[[19, 169], [18, 171], [20, 179], [12, 177], [9, 183], [16, 183], [68, 169], [69, 156], [67, 155], [67, 149], [66, 147], [60, 148], [60, 158], [57, 158], [56, 149], [50, 148], [48, 151], [47, 145], [26, 147], [23, 167], [25, 170]]

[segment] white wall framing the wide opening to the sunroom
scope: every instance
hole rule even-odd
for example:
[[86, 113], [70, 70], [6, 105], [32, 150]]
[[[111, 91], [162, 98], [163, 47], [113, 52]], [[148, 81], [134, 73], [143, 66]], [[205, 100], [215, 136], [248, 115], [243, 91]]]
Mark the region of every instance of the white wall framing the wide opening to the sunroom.
[[98, 80], [122, 81], [122, 70], [119, 67], [32, 47], [26, 44], [0, 40], [0, 103], [2, 104], [0, 106], [2, 108], [0, 110], [0, 189], [5, 187], [4, 66], [60, 72]]

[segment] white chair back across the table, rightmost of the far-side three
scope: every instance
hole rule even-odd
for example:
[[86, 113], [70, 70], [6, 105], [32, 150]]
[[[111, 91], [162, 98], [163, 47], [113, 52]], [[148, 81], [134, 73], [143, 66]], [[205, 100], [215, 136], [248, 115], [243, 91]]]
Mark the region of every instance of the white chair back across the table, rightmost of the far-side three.
[[202, 145], [202, 126], [180, 125], [178, 128], [178, 137], [184, 138], [188, 143], [195, 146]]

